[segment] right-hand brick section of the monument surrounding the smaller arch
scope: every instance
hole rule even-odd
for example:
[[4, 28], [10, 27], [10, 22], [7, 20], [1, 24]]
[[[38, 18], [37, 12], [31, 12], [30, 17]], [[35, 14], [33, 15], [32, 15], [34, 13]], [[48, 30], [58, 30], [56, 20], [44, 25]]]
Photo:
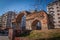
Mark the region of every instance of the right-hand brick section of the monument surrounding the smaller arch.
[[41, 22], [41, 29], [48, 29], [48, 18], [47, 13], [45, 11], [32, 12], [31, 14], [26, 16], [26, 29], [33, 30], [32, 24], [34, 20], [39, 20]]

